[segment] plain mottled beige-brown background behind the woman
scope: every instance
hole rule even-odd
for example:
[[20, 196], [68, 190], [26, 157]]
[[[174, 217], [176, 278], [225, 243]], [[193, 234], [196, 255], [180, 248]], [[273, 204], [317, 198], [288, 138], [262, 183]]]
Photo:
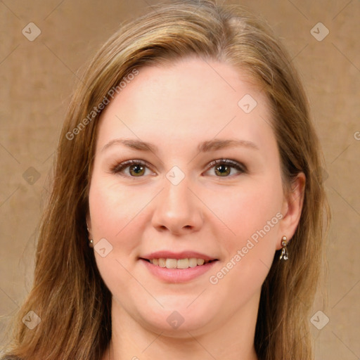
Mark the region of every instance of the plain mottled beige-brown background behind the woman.
[[[124, 19], [157, 2], [0, 1], [1, 345], [6, 323], [31, 285], [47, 176], [81, 67]], [[307, 88], [333, 212], [328, 307], [319, 294], [312, 312], [321, 310], [330, 321], [321, 330], [311, 325], [311, 333], [316, 359], [359, 359], [360, 1], [226, 1], [231, 3], [268, 21], [288, 46]], [[41, 30], [34, 41], [22, 34], [30, 22]], [[319, 22], [330, 31], [323, 41], [310, 32]]]

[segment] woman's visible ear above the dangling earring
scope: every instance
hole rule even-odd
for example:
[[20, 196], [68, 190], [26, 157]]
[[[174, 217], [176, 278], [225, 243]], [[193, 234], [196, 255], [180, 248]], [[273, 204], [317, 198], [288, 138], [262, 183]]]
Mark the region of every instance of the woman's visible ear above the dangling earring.
[[300, 172], [291, 184], [291, 189], [288, 194], [284, 195], [283, 206], [281, 208], [281, 219], [278, 233], [278, 242], [276, 243], [276, 250], [281, 249], [281, 238], [285, 235], [288, 241], [293, 238], [294, 233], [299, 224], [302, 205], [304, 203], [306, 177], [303, 172]]

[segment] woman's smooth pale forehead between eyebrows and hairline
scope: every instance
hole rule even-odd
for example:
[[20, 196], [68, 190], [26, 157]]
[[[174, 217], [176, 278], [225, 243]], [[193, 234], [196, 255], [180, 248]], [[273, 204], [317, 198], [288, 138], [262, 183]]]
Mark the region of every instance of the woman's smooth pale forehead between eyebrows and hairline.
[[[148, 66], [128, 82], [101, 115], [98, 148], [118, 137], [163, 146], [241, 137], [272, 141], [265, 94], [226, 63], [185, 58]], [[272, 139], [271, 139], [272, 137]]]

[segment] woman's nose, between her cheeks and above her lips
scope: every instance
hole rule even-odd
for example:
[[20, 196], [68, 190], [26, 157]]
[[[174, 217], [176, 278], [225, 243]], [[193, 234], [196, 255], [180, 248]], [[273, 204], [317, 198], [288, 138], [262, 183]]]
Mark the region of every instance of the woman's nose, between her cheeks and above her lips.
[[156, 200], [152, 224], [158, 231], [181, 235], [203, 226], [202, 204], [190, 190], [186, 178], [177, 185], [165, 179], [165, 188]]

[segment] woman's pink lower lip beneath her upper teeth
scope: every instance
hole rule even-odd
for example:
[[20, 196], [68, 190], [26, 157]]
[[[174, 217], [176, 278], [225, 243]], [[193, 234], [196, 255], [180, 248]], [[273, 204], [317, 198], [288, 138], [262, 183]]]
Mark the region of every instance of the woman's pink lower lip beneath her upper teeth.
[[186, 281], [191, 281], [194, 278], [205, 274], [205, 272], [209, 271], [217, 262], [207, 262], [207, 264], [188, 267], [188, 269], [167, 269], [167, 267], [153, 265], [144, 259], [140, 259], [140, 261], [145, 264], [146, 268], [148, 271], [150, 271], [151, 274], [169, 283], [185, 283]]

